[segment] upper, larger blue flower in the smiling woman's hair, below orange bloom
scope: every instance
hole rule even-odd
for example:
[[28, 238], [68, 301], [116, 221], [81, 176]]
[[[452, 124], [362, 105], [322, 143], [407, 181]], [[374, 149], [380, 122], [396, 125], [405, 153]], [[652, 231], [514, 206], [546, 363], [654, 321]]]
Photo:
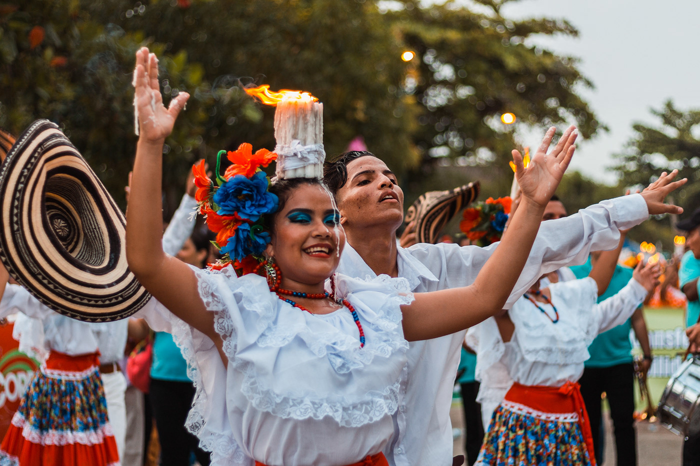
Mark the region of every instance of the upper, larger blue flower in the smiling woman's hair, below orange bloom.
[[223, 183], [214, 194], [214, 203], [219, 206], [219, 215], [237, 213], [241, 218], [255, 222], [265, 213], [277, 210], [279, 199], [267, 192], [267, 176], [258, 171], [250, 179], [236, 175]]

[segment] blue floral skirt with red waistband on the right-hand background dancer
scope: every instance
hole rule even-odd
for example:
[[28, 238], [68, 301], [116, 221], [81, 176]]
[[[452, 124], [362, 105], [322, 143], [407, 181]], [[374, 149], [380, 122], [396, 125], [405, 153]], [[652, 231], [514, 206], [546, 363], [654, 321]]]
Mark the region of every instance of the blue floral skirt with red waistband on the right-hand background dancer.
[[476, 466], [595, 466], [581, 413], [568, 395], [547, 394], [535, 400], [533, 393], [528, 398], [512, 396], [512, 391], [493, 412]]

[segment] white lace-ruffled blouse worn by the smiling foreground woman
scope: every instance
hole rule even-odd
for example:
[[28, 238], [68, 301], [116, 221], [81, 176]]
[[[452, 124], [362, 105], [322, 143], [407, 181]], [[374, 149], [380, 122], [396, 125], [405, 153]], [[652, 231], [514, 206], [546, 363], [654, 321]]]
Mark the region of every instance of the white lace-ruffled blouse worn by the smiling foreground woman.
[[347, 465], [379, 453], [393, 433], [407, 341], [403, 278], [337, 276], [336, 296], [353, 305], [319, 315], [283, 302], [265, 278], [195, 269], [200, 297], [216, 313], [228, 367], [204, 334], [160, 303], [141, 311], [171, 332], [197, 394], [188, 429], [212, 465]]

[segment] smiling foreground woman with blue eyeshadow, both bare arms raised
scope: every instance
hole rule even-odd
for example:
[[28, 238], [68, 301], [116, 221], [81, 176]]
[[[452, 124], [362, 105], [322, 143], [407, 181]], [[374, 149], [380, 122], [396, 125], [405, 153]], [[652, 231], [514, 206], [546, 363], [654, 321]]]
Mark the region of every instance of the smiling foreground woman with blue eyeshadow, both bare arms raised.
[[[573, 155], [575, 134], [547, 154], [550, 130], [528, 169], [514, 151], [524, 201], [512, 233], [473, 285], [412, 296], [397, 291], [407, 290], [402, 279], [335, 276], [329, 293], [324, 283], [337, 266], [344, 234], [318, 180], [283, 180], [269, 192], [235, 191], [236, 183], [267, 187], [258, 172], [248, 180], [232, 176], [216, 192], [233, 192], [214, 198], [221, 208], [216, 215], [209, 211], [210, 227], [218, 219], [219, 233], [230, 233], [219, 245], [244, 269], [248, 251], [265, 255], [270, 283], [256, 274], [237, 278], [232, 267], [190, 268], [162, 253], [162, 144], [188, 96], [162, 105], [157, 60], [147, 49], [137, 52], [134, 73], [140, 136], [127, 257], [167, 308], [149, 309], [149, 324], [170, 327], [189, 362], [197, 395], [188, 424], [203, 448], [213, 451], [212, 464], [386, 465], [381, 450], [393, 432], [406, 339], [449, 334], [500, 311]], [[388, 186], [386, 202], [395, 201], [392, 193]], [[224, 212], [229, 204], [238, 207]], [[493, 287], [496, 282], [500, 286]]]

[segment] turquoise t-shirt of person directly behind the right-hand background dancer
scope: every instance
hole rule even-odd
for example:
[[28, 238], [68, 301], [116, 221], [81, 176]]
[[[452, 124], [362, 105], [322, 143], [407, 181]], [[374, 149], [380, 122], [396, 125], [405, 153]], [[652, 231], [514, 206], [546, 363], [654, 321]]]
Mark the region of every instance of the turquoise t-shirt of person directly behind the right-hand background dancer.
[[[591, 273], [591, 259], [583, 265], [570, 267], [576, 278], [587, 277]], [[617, 294], [632, 278], [632, 269], [622, 265], [615, 266], [610, 285], [603, 295], [598, 297], [598, 302]], [[632, 328], [631, 319], [624, 324], [612, 327], [593, 340], [588, 352], [591, 358], [584, 362], [585, 367], [612, 367], [619, 364], [632, 362], [632, 342], [629, 339], [629, 330]]]

